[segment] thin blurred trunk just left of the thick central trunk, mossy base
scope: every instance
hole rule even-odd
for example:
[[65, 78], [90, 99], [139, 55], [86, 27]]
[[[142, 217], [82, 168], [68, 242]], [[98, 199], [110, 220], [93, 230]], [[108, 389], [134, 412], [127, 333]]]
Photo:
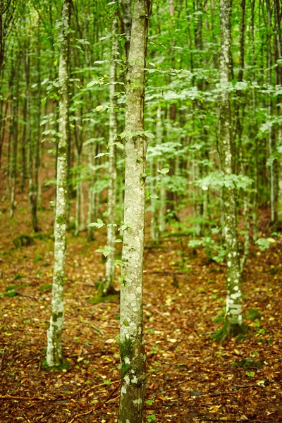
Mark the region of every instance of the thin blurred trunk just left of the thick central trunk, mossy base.
[[116, 16], [113, 18], [112, 25], [112, 47], [111, 47], [111, 67], [110, 67], [110, 122], [109, 122], [109, 188], [108, 188], [108, 226], [107, 226], [107, 242], [111, 252], [106, 257], [106, 274], [102, 284], [103, 296], [109, 295], [114, 292], [114, 274], [115, 274], [115, 240], [116, 240], [116, 226], [113, 223], [116, 221], [116, 146], [114, 140], [117, 134], [117, 122], [116, 122], [116, 58], [118, 57], [118, 20]]

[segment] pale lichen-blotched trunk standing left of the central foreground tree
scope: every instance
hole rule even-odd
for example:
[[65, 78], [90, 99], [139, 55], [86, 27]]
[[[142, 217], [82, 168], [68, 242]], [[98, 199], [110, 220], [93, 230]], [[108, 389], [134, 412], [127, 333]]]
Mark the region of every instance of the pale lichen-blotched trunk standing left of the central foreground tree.
[[59, 145], [56, 180], [56, 213], [54, 224], [54, 274], [51, 319], [47, 333], [47, 365], [63, 364], [63, 281], [66, 261], [66, 212], [68, 207], [68, 35], [70, 32], [71, 0], [64, 0], [61, 23], [61, 53], [59, 63]]

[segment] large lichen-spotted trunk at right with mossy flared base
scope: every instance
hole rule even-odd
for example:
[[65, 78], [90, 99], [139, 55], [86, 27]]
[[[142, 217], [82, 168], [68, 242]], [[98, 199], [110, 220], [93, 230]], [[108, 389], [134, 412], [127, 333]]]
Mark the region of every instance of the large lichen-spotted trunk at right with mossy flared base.
[[[231, 105], [228, 82], [231, 81], [231, 1], [220, 1], [220, 134], [219, 153], [223, 175], [233, 173], [231, 139]], [[242, 293], [235, 212], [235, 188], [223, 188], [224, 235], [227, 257], [226, 335], [240, 331], [242, 324]]]

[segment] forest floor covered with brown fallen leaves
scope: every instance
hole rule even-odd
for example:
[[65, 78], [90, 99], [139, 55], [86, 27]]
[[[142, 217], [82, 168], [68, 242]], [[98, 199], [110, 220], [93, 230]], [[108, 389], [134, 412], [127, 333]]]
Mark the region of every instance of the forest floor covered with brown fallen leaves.
[[[104, 274], [102, 255], [95, 250], [104, 247], [105, 234], [97, 231], [88, 243], [85, 233], [78, 238], [68, 233], [63, 351], [70, 366], [44, 370], [53, 189], [44, 191], [42, 235], [31, 231], [27, 195], [17, 194], [10, 219], [4, 179], [0, 190], [0, 422], [117, 422], [118, 343], [107, 341], [118, 335], [118, 298], [91, 303], [94, 283]], [[261, 236], [269, 235], [267, 216], [260, 230]], [[22, 234], [35, 244], [16, 248], [13, 240]], [[214, 319], [223, 314], [226, 267], [209, 262], [203, 250], [193, 256], [187, 244], [188, 238], [177, 233], [159, 247], [147, 238], [145, 422], [282, 422], [281, 240], [264, 252], [252, 245], [243, 276], [249, 331], [241, 341], [223, 343], [211, 336], [221, 327]]]

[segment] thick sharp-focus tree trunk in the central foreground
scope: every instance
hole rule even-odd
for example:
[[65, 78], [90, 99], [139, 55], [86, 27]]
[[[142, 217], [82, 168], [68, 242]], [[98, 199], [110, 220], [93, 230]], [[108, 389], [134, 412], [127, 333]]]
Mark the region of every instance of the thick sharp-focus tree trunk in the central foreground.
[[142, 423], [146, 354], [142, 328], [142, 274], [145, 227], [146, 140], [145, 60], [151, 1], [135, 0], [128, 56], [125, 114], [125, 200], [121, 283], [121, 397], [119, 423]]

